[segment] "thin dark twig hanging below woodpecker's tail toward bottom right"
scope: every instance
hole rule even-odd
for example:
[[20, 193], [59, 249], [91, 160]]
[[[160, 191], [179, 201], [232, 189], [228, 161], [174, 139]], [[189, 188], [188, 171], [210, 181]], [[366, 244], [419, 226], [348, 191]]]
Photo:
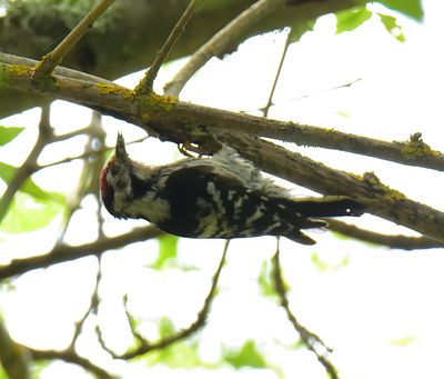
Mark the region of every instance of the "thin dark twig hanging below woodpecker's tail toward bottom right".
[[299, 332], [301, 340], [304, 342], [305, 347], [313, 351], [316, 356], [317, 360], [321, 365], [325, 368], [329, 372], [331, 379], [339, 379], [336, 368], [333, 363], [329, 360], [327, 353], [331, 352], [331, 349], [325, 346], [322, 339], [306, 329], [303, 325], [301, 325], [296, 317], [290, 309], [289, 299], [286, 296], [286, 288], [284, 283], [284, 279], [282, 278], [282, 269], [279, 259], [280, 249], [279, 249], [279, 240], [278, 240], [278, 249], [276, 253], [273, 258], [273, 282], [275, 290], [279, 295], [281, 306], [284, 308], [286, 317], [289, 318], [290, 322], [293, 325], [294, 329]]

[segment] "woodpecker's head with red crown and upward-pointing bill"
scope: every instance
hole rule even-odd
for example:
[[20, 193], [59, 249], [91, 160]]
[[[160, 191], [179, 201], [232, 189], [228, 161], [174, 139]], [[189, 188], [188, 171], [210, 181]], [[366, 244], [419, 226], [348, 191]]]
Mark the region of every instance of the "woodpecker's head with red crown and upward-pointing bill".
[[125, 218], [123, 209], [132, 198], [132, 167], [123, 136], [119, 133], [114, 154], [100, 172], [100, 195], [103, 205], [112, 216], [118, 218]]

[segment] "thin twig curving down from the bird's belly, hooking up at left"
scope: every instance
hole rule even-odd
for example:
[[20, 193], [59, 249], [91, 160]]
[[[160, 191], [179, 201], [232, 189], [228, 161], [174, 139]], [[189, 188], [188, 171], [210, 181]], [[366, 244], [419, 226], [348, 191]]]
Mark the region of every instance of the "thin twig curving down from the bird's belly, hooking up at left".
[[225, 262], [225, 257], [226, 257], [226, 251], [229, 249], [229, 245], [230, 245], [230, 240], [226, 240], [224, 249], [223, 249], [223, 253], [222, 253], [222, 257], [221, 257], [221, 260], [220, 260], [218, 269], [216, 269], [216, 271], [215, 271], [215, 273], [213, 276], [213, 280], [212, 280], [212, 283], [211, 283], [210, 291], [208, 292], [206, 298], [205, 298], [205, 300], [203, 302], [203, 307], [199, 311], [198, 318], [195, 319], [195, 321], [193, 323], [191, 323], [188, 328], [180, 330], [175, 335], [162, 338], [161, 340], [159, 340], [157, 342], [149, 342], [149, 341], [143, 340], [138, 348], [135, 348], [132, 351], [128, 351], [128, 352], [125, 352], [123, 355], [117, 355], [115, 352], [113, 352], [112, 350], [107, 348], [107, 346], [103, 343], [103, 340], [100, 337], [100, 330], [98, 330], [99, 339], [101, 339], [101, 343], [102, 343], [103, 348], [114, 359], [125, 359], [125, 360], [128, 360], [128, 359], [132, 359], [132, 358], [135, 358], [135, 357], [140, 357], [140, 356], [142, 356], [142, 355], [144, 355], [144, 353], [147, 353], [149, 351], [152, 351], [152, 350], [163, 349], [167, 346], [170, 346], [171, 343], [178, 342], [180, 340], [183, 340], [183, 339], [190, 337], [191, 335], [195, 333], [199, 329], [201, 329], [205, 325], [208, 315], [210, 312], [211, 303], [212, 303], [212, 301], [214, 299], [214, 296], [215, 296], [215, 289], [218, 287], [219, 277], [221, 275], [223, 265]]

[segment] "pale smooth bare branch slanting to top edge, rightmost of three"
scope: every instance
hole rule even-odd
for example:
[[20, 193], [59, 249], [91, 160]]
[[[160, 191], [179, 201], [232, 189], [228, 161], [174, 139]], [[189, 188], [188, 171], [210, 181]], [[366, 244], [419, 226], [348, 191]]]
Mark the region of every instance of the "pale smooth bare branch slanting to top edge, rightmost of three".
[[186, 64], [164, 87], [165, 93], [179, 97], [185, 83], [203, 64], [212, 57], [218, 57], [226, 51], [226, 48], [233, 41], [238, 41], [245, 30], [266, 18], [281, 6], [284, 6], [283, 1], [279, 0], [260, 0], [252, 4], [191, 56]]

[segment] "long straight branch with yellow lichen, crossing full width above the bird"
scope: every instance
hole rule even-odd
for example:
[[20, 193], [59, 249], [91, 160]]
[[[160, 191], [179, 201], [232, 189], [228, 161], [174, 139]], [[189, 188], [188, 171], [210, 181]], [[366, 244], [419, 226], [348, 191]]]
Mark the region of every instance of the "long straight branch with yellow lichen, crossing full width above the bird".
[[[1, 62], [0, 56], [0, 82], [3, 81], [7, 87], [27, 92], [48, 93], [72, 102], [97, 107], [103, 112], [135, 124], [140, 124], [142, 121], [147, 131], [152, 134], [170, 133], [170, 139], [179, 133], [175, 137], [182, 138], [181, 141], [183, 141], [184, 132], [180, 132], [180, 130], [174, 132], [176, 127], [182, 126], [183, 128], [183, 124], [205, 126], [216, 130], [243, 132], [294, 142], [300, 146], [347, 151], [401, 164], [444, 171], [444, 154], [432, 150], [421, 140], [418, 133], [411, 136], [406, 142], [387, 142], [333, 129], [195, 106], [169, 97], [141, 97], [134, 103], [133, 92], [123, 87], [109, 84], [109, 82], [92, 86], [89, 81], [70, 80], [64, 76], [54, 78], [58, 86], [41, 90], [29, 80], [27, 73], [31, 67], [16, 67]], [[72, 71], [70, 73], [73, 74]]]

